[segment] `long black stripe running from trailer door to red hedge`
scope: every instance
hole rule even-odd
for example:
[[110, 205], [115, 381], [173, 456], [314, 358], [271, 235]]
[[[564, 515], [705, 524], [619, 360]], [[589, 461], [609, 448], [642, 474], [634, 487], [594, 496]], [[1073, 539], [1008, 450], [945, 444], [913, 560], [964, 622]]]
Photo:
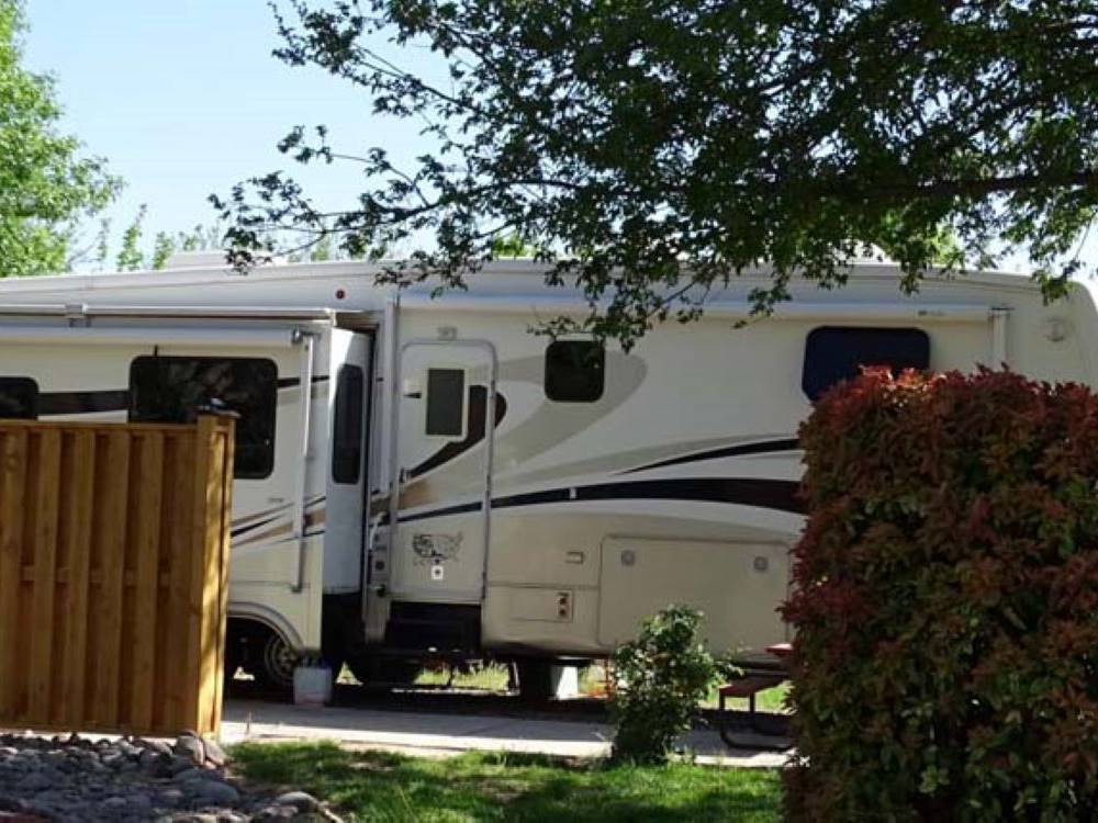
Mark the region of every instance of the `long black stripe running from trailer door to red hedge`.
[[[584, 500], [684, 500], [701, 503], [727, 503], [739, 506], [755, 506], [764, 509], [805, 511], [799, 496], [799, 481], [768, 480], [761, 477], [684, 477], [658, 481], [625, 481], [621, 483], [600, 483], [593, 486], [553, 488], [545, 492], [529, 492], [520, 495], [497, 497], [492, 500], [493, 509], [518, 506], [544, 506], [552, 503]], [[463, 503], [423, 514], [401, 517], [401, 522], [424, 520], [432, 517], [462, 515], [480, 511], [481, 503]]]

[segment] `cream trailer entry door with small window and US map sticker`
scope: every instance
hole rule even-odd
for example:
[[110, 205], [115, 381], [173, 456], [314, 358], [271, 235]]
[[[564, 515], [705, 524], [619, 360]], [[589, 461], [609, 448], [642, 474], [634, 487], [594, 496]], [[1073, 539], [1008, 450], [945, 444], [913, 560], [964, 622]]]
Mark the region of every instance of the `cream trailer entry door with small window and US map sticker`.
[[481, 601], [491, 510], [495, 351], [411, 341], [397, 382], [394, 599]]

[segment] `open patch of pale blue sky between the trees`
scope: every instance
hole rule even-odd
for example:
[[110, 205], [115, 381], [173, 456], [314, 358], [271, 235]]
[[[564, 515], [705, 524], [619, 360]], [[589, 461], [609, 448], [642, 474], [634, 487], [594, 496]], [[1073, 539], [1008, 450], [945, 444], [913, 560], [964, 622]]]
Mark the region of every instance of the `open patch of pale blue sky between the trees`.
[[354, 167], [299, 172], [274, 149], [294, 124], [325, 123], [345, 149], [411, 159], [425, 148], [416, 124], [372, 116], [348, 83], [273, 58], [264, 0], [25, 0], [25, 60], [56, 78], [64, 128], [126, 181], [115, 245], [142, 203], [146, 237], [209, 225], [211, 192], [276, 168], [293, 167], [322, 205], [347, 202], [361, 188]]

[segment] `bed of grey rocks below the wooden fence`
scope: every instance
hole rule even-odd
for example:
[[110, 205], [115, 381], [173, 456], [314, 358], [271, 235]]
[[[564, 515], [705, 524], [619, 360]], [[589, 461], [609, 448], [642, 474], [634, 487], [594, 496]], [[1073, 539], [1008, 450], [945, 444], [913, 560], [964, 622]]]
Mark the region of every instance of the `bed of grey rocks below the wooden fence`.
[[226, 774], [213, 741], [0, 735], [0, 823], [338, 821], [302, 791], [274, 796]]

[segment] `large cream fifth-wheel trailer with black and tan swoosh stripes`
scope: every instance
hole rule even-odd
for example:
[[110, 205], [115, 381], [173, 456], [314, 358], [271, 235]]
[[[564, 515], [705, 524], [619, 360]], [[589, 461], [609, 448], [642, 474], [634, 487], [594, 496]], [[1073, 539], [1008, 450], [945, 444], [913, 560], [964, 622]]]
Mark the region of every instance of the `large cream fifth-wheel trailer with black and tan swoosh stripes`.
[[321, 655], [388, 681], [490, 656], [541, 689], [548, 661], [604, 656], [671, 602], [750, 656], [788, 638], [796, 432], [828, 386], [876, 363], [1098, 382], [1085, 284], [1052, 305], [998, 273], [904, 296], [866, 263], [751, 320], [761, 271], [626, 352], [531, 334], [586, 311], [534, 263], [440, 298], [376, 273], [0, 281], [0, 417], [239, 414], [227, 657], [268, 683]]

